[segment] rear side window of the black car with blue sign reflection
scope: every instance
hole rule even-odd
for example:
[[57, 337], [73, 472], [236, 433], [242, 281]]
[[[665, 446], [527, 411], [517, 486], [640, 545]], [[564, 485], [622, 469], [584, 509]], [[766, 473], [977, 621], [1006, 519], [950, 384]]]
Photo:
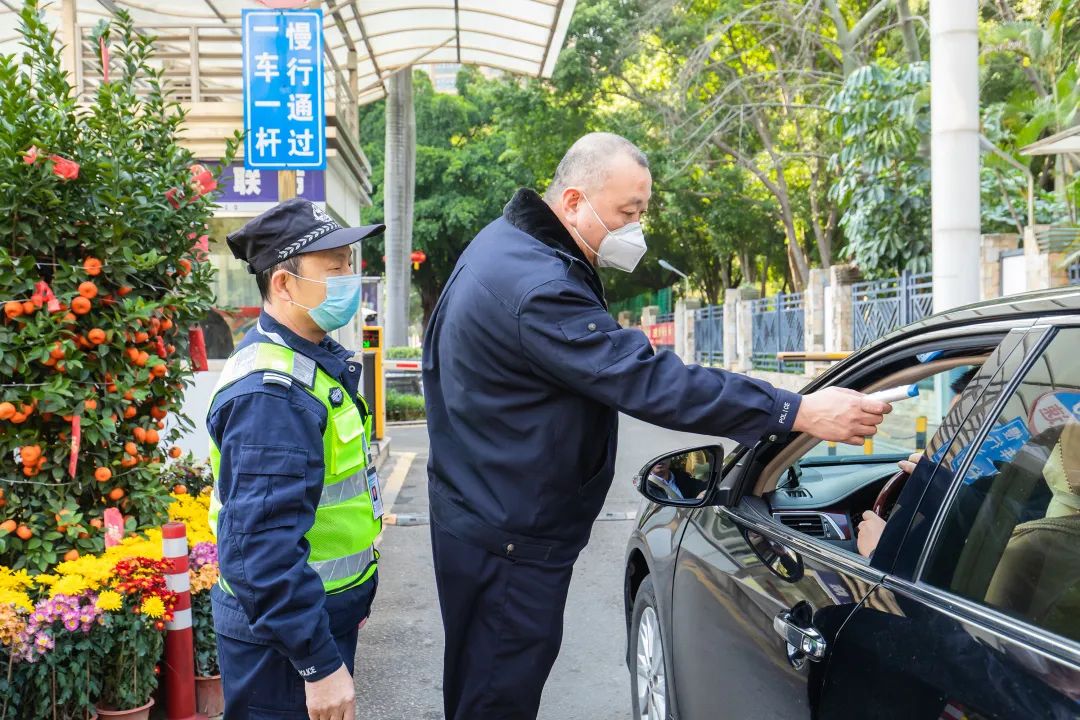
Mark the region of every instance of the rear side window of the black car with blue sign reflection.
[[1080, 329], [1061, 330], [977, 443], [922, 580], [1080, 640]]

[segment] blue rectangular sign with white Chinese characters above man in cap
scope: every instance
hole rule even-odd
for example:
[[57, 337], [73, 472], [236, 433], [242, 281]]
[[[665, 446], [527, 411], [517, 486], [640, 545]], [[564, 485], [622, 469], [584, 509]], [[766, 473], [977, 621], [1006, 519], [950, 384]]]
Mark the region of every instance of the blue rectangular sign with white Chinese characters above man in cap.
[[244, 167], [324, 169], [323, 12], [244, 10]]

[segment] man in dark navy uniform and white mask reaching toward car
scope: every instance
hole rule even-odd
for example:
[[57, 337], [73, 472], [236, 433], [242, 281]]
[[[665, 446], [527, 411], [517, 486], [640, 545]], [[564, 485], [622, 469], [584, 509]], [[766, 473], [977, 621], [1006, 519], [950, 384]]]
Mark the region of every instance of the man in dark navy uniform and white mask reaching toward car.
[[632, 271], [645, 155], [592, 134], [546, 195], [521, 190], [458, 261], [424, 339], [429, 492], [448, 720], [535, 718], [570, 574], [613, 475], [619, 411], [741, 443], [861, 444], [889, 407], [800, 397], [654, 354], [608, 314], [596, 268]]

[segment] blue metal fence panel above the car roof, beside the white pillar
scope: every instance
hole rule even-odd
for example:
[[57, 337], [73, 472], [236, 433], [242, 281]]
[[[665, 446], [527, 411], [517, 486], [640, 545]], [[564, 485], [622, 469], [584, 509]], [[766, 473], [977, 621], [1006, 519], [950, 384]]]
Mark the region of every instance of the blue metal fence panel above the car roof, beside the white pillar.
[[867, 345], [933, 312], [931, 273], [914, 275], [905, 272], [890, 280], [855, 283], [851, 293], [855, 348]]

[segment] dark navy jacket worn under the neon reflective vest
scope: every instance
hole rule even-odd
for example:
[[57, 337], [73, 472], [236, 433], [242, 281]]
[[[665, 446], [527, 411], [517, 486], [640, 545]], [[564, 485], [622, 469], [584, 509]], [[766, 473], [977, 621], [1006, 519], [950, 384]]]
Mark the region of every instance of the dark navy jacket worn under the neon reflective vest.
[[[253, 342], [276, 342], [307, 355], [355, 402], [362, 365], [330, 338], [316, 345], [264, 312], [237, 350]], [[218, 558], [235, 593], [214, 588], [214, 628], [274, 648], [315, 681], [341, 667], [334, 636], [367, 616], [377, 579], [327, 596], [308, 567], [303, 533], [314, 524], [323, 488], [326, 407], [298, 384], [272, 377], [255, 372], [226, 388], [206, 420], [221, 450]]]

